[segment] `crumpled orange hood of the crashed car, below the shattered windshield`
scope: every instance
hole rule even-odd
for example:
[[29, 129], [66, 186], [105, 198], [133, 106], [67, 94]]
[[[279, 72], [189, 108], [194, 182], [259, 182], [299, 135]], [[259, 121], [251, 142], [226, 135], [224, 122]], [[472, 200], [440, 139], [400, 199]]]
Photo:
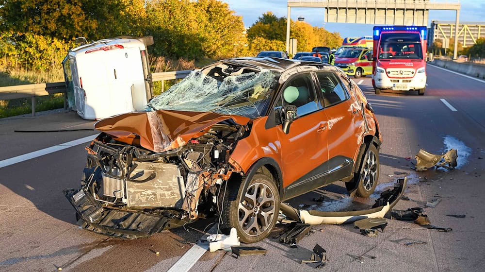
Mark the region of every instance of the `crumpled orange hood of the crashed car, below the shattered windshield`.
[[213, 125], [228, 119], [240, 125], [249, 121], [247, 117], [215, 112], [157, 110], [102, 119], [95, 128], [120, 142], [159, 153], [183, 146], [191, 138], [205, 134]]

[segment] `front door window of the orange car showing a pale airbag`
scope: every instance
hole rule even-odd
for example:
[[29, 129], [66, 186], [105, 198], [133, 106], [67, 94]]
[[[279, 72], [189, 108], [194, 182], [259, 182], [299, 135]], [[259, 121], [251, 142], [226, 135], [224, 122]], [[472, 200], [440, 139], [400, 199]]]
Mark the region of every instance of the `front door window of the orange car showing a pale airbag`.
[[298, 116], [304, 116], [319, 110], [313, 81], [309, 74], [296, 76], [284, 86], [282, 99], [276, 103], [276, 108], [294, 105]]

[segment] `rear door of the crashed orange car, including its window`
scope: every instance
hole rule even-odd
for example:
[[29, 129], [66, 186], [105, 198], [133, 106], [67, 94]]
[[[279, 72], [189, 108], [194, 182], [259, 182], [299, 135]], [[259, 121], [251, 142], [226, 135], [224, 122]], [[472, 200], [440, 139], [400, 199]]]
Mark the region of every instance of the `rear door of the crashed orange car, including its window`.
[[339, 73], [318, 71], [318, 82], [322, 88], [323, 105], [328, 118], [328, 176], [326, 183], [338, 181], [353, 172], [354, 158], [362, 141], [361, 107], [350, 95]]

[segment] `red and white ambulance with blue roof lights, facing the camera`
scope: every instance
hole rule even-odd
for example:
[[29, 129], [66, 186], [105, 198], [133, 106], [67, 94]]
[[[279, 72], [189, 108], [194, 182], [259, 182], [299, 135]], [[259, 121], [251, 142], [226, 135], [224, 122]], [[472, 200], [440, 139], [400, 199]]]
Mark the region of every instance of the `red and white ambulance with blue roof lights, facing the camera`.
[[374, 26], [372, 85], [375, 94], [383, 89], [418, 91], [426, 89], [426, 27]]

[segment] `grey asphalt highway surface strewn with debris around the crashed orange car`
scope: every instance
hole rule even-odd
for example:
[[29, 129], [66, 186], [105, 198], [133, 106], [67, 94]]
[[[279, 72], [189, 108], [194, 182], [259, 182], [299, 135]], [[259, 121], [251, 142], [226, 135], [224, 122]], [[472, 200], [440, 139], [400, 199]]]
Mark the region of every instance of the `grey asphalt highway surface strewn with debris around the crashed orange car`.
[[[62, 193], [66, 187], [80, 186], [84, 147], [96, 132], [79, 129], [91, 129], [94, 122], [60, 112], [0, 119], [0, 271], [312, 271], [300, 260], [310, 257], [316, 243], [327, 251], [329, 261], [323, 271], [483, 271], [485, 82], [431, 65], [427, 74], [424, 96], [395, 91], [374, 95], [369, 77], [355, 81], [372, 102], [384, 138], [377, 190], [408, 176], [405, 195], [411, 200], [401, 200], [396, 208], [423, 207], [439, 198], [435, 208], [425, 210], [434, 225], [451, 227], [452, 232], [388, 220], [384, 233], [366, 237], [353, 225], [321, 225], [297, 248], [267, 238], [256, 244], [267, 249], [267, 255], [239, 259], [191, 244], [206, 227], [211, 229], [210, 220], [144, 239], [97, 235], [75, 224], [74, 209]], [[78, 131], [14, 132], [61, 129]], [[405, 158], [414, 158], [420, 148], [431, 153], [457, 149], [458, 168], [411, 170], [411, 161]], [[319, 192], [341, 192], [341, 186]], [[318, 192], [309, 193], [303, 202], [324, 209], [353, 201], [346, 197], [311, 203], [315, 195]], [[412, 241], [425, 243], [404, 245]]]

